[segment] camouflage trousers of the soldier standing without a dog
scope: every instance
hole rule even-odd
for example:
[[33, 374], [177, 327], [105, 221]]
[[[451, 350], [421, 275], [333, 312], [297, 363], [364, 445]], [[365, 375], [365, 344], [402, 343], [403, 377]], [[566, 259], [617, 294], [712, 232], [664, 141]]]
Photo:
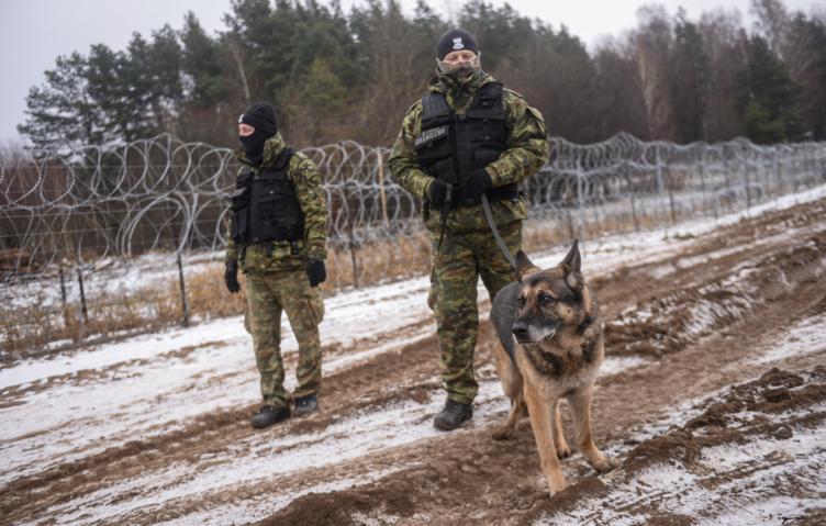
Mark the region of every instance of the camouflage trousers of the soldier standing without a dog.
[[299, 343], [298, 388], [293, 396], [314, 394], [321, 387], [319, 324], [324, 317], [321, 291], [310, 287], [303, 268], [247, 273], [247, 317], [255, 360], [261, 376], [265, 405], [287, 405], [281, 361], [281, 311], [287, 312]]

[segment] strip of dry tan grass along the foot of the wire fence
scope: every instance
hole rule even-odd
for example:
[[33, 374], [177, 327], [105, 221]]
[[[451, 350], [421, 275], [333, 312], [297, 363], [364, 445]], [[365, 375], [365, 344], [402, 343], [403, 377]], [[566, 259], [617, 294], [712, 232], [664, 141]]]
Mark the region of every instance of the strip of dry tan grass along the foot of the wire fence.
[[[588, 217], [577, 224], [562, 216], [539, 222], [529, 222], [523, 232], [526, 251], [539, 251], [570, 243], [571, 237], [589, 238], [605, 232], [628, 232], [635, 228], [651, 228], [668, 224], [668, 214], [614, 215], [600, 221]], [[424, 233], [393, 240], [371, 243], [350, 250], [331, 248], [327, 260], [327, 281], [322, 290], [330, 294], [349, 287], [365, 287], [413, 276], [422, 276], [429, 269], [431, 243]], [[246, 309], [244, 277], [242, 291], [230, 294], [224, 287], [224, 266], [221, 262], [201, 265], [198, 270], [186, 272], [189, 316], [193, 322], [214, 317], [243, 314]], [[183, 320], [180, 289], [177, 277], [153, 287], [127, 294], [100, 294], [87, 292], [88, 323], [82, 323], [78, 305], [62, 309], [38, 306], [4, 309], [0, 306], [0, 351], [8, 358], [13, 352], [21, 355], [42, 354], [52, 342], [79, 342], [90, 336], [111, 336], [135, 329], [154, 331], [180, 324]], [[45, 300], [45, 299], [44, 299]], [[36, 301], [34, 304], [43, 304]]]

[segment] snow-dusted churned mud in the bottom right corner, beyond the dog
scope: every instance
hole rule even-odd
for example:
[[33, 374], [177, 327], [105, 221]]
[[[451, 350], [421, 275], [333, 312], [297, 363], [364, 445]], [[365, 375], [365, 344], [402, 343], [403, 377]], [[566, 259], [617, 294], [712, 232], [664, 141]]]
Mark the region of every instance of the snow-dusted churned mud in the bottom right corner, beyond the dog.
[[[826, 367], [773, 368], [700, 406], [699, 416], [634, 447], [609, 483], [587, 478], [520, 524], [743, 523], [732, 508], [750, 524], [786, 524], [814, 518], [818, 502], [823, 512]], [[801, 506], [806, 502], [815, 506]]]

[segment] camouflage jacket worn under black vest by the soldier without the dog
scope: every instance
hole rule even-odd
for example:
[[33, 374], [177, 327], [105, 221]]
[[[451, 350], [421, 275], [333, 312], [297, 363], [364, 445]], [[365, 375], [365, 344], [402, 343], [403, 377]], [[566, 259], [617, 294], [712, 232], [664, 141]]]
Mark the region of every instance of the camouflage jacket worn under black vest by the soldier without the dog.
[[[260, 166], [253, 165], [244, 155], [243, 149], [236, 150], [235, 156], [238, 161], [245, 165], [238, 175], [252, 169], [255, 174], [254, 177], [257, 177], [261, 168], [272, 164], [284, 148], [286, 145], [280, 133], [267, 139], [264, 145], [264, 161]], [[326, 259], [327, 206], [319, 169], [312, 160], [297, 152], [290, 159], [287, 175], [295, 188], [295, 197], [304, 215], [304, 238], [298, 243], [299, 254], [291, 253], [289, 242], [261, 243], [248, 245], [246, 248], [238, 246], [228, 235], [232, 232], [231, 219], [226, 236], [228, 239], [226, 260], [237, 259], [245, 272], [249, 270], [269, 272], [303, 268], [308, 258]]]

